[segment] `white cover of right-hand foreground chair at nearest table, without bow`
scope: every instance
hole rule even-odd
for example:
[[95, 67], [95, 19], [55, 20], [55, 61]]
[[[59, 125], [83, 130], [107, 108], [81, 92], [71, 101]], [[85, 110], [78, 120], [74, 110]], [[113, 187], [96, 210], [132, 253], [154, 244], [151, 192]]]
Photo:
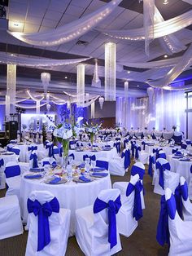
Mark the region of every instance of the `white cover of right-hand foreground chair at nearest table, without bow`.
[[[98, 198], [108, 203], [116, 201], [120, 196], [118, 189], [106, 189], [98, 194]], [[108, 210], [97, 214], [93, 205], [76, 210], [76, 241], [86, 256], [108, 256], [121, 250], [120, 235], [116, 229], [117, 244], [110, 249], [108, 242]]]

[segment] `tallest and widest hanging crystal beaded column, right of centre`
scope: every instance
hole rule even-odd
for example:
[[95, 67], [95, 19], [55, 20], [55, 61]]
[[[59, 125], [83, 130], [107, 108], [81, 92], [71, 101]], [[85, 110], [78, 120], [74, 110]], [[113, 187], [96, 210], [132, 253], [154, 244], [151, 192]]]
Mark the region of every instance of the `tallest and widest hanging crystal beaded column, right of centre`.
[[105, 44], [105, 100], [116, 101], [116, 43]]

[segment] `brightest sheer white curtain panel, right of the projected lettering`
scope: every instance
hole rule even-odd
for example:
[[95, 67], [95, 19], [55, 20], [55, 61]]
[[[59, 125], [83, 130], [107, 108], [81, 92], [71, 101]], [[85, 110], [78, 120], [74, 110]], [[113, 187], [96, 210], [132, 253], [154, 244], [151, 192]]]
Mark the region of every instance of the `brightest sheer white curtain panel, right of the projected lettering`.
[[185, 93], [184, 91], [167, 91], [155, 89], [155, 128], [185, 132]]

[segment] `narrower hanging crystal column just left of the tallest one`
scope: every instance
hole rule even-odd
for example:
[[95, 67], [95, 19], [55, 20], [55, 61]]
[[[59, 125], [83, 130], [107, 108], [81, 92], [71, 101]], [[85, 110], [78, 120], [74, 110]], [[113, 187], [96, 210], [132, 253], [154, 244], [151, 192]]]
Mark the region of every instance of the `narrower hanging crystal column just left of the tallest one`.
[[77, 83], [76, 83], [76, 104], [77, 107], [83, 107], [85, 103], [85, 65], [77, 65]]

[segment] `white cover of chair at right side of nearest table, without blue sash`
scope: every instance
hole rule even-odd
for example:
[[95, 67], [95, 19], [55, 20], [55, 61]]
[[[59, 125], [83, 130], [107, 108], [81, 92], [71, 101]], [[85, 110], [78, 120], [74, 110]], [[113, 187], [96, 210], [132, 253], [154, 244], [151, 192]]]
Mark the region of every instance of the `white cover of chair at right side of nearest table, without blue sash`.
[[[135, 185], [138, 180], [139, 175], [136, 174], [130, 179], [130, 183]], [[113, 188], [118, 188], [118, 183], [114, 183]], [[122, 206], [116, 215], [118, 230], [121, 235], [126, 237], [129, 237], [138, 225], [137, 220], [133, 218], [134, 194], [134, 191], [129, 196], [121, 193]]]

